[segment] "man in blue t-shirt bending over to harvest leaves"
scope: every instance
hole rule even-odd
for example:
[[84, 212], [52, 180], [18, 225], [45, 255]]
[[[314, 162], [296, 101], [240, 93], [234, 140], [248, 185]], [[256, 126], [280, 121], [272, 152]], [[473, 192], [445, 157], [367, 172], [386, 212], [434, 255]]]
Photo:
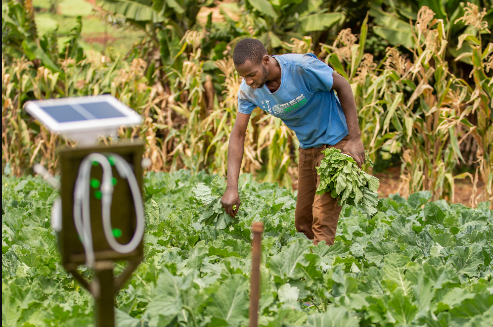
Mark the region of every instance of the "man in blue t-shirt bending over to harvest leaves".
[[315, 245], [322, 240], [332, 245], [341, 207], [330, 193], [315, 194], [319, 183], [316, 167], [327, 147], [350, 154], [359, 167], [364, 162], [351, 85], [313, 53], [269, 56], [262, 42], [255, 39], [238, 42], [233, 62], [243, 81], [229, 138], [227, 188], [221, 199], [226, 213], [234, 217], [240, 206], [238, 176], [245, 132], [251, 112], [260, 107], [279, 117], [300, 141], [296, 230]]

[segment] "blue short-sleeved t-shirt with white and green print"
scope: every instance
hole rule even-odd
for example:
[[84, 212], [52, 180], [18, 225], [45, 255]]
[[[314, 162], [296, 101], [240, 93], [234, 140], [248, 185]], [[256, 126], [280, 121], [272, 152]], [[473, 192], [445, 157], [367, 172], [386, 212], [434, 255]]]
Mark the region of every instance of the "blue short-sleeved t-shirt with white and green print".
[[332, 68], [313, 53], [289, 53], [274, 58], [281, 67], [279, 89], [270, 93], [264, 85], [254, 90], [243, 80], [238, 92], [238, 112], [250, 114], [260, 107], [280, 118], [296, 133], [304, 149], [334, 145], [348, 135], [346, 116], [332, 91]]

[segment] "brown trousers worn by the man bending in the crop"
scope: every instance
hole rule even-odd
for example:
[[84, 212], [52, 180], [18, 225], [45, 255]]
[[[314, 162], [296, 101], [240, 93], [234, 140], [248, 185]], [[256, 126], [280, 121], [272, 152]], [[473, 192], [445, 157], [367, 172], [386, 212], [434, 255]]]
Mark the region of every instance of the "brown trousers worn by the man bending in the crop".
[[335, 147], [342, 148], [349, 140], [345, 137], [335, 145], [322, 145], [308, 149], [300, 148], [298, 162], [298, 200], [294, 223], [296, 230], [314, 240], [317, 245], [320, 241], [325, 244], [334, 244], [334, 238], [342, 207], [337, 205], [337, 199], [330, 193], [316, 195], [315, 190], [320, 183], [320, 176], [316, 173], [316, 167], [320, 166], [324, 154], [323, 150]]

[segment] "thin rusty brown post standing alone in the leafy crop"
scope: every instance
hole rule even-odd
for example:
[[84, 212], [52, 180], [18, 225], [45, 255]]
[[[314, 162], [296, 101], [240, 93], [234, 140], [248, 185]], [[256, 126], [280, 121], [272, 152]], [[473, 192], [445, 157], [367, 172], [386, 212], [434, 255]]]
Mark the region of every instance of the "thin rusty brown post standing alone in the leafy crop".
[[264, 232], [264, 224], [254, 222], [252, 224], [252, 275], [250, 278], [250, 327], [258, 327], [259, 324], [259, 298], [260, 298], [260, 257], [261, 241]]

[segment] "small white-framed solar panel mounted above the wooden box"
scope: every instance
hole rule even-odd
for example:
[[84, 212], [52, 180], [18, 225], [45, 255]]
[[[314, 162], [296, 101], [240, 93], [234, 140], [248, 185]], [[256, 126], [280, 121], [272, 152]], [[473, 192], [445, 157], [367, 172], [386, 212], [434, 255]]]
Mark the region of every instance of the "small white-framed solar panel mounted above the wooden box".
[[112, 95], [28, 101], [26, 111], [50, 131], [82, 142], [115, 135], [122, 126], [140, 124], [142, 117]]

